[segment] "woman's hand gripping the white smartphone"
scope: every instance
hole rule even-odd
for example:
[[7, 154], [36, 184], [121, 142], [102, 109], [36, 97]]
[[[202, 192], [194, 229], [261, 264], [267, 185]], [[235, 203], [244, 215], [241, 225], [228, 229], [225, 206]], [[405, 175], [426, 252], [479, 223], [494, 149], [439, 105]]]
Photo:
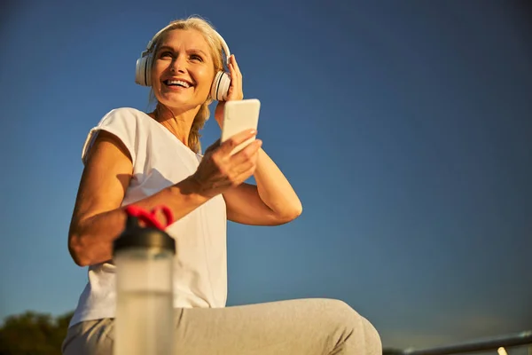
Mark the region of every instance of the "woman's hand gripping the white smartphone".
[[205, 151], [198, 170], [192, 175], [200, 194], [214, 197], [236, 187], [254, 174], [262, 140], [255, 139], [236, 154], [232, 150], [256, 135], [255, 130], [244, 130], [220, 144], [218, 139]]

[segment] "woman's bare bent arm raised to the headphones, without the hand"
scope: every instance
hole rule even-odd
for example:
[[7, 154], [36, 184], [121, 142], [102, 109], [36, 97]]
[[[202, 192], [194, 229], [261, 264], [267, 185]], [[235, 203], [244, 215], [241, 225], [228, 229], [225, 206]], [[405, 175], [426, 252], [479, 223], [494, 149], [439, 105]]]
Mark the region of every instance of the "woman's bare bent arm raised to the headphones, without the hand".
[[223, 193], [228, 219], [245, 225], [282, 225], [301, 215], [297, 194], [262, 148], [254, 178], [256, 186], [242, 184]]

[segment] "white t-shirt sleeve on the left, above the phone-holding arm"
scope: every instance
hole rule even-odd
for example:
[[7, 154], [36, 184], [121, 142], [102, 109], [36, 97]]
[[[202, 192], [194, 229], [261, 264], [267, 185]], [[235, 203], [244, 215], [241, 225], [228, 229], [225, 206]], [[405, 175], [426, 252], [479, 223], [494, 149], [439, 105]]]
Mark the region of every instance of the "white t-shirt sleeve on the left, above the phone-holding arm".
[[90, 148], [94, 145], [98, 132], [106, 130], [119, 138], [123, 145], [128, 149], [133, 162], [136, 161], [136, 146], [137, 146], [137, 120], [134, 114], [130, 114], [129, 110], [114, 109], [106, 114], [96, 127], [93, 127], [85, 139], [82, 149], [82, 162], [87, 162], [87, 156]]

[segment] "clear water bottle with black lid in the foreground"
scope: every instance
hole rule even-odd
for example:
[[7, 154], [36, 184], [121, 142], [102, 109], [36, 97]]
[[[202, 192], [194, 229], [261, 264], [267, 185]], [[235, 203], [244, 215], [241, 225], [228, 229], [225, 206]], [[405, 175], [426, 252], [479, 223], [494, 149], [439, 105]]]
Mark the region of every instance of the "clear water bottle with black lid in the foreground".
[[116, 265], [114, 355], [174, 355], [173, 259], [176, 242], [129, 214], [113, 241]]

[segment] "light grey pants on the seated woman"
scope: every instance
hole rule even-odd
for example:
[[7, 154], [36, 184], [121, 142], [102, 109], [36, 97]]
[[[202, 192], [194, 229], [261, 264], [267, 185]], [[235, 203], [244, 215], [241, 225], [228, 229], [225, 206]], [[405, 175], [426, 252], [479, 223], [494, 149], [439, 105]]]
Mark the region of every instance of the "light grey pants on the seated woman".
[[[372, 324], [332, 299], [176, 309], [175, 339], [186, 355], [382, 354]], [[112, 355], [113, 319], [70, 327], [63, 354]]]

